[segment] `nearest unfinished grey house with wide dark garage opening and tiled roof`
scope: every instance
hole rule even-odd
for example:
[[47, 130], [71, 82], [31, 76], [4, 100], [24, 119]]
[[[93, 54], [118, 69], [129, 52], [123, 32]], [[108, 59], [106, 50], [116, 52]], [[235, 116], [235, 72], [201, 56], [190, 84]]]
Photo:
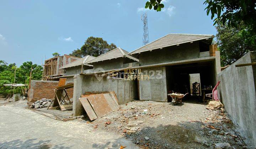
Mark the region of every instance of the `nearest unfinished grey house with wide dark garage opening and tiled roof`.
[[[149, 79], [139, 81], [139, 99], [166, 101], [169, 92], [190, 93], [191, 84], [201, 88], [215, 86], [220, 72], [220, 55], [212, 45], [214, 35], [167, 34], [129, 55], [140, 60], [142, 73]], [[193, 75], [192, 75], [193, 74]]]

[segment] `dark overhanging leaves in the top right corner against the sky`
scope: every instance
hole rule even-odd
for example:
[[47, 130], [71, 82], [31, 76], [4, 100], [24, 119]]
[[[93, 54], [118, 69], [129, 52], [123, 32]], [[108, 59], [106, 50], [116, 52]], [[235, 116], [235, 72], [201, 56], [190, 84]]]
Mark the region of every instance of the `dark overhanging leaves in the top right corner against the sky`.
[[229, 27], [240, 28], [238, 34], [246, 38], [246, 42], [256, 45], [256, 2], [255, 0], [206, 0], [204, 4], [207, 15], [211, 13], [214, 24], [228, 25]]

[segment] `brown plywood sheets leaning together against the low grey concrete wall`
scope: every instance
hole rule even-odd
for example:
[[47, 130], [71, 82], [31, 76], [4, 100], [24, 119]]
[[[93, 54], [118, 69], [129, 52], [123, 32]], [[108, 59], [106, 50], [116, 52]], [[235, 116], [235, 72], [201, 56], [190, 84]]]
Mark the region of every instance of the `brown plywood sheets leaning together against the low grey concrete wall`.
[[119, 109], [118, 99], [114, 92], [93, 93], [81, 96], [79, 100], [90, 120], [95, 120]]

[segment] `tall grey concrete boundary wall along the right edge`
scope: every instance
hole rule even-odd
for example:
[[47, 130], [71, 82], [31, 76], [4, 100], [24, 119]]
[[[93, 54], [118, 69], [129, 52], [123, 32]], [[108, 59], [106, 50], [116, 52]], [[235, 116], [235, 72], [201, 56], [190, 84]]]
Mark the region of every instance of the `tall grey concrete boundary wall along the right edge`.
[[236, 64], [256, 62], [256, 51], [218, 74], [218, 95], [233, 122], [244, 129], [256, 147], [256, 66], [235, 67]]

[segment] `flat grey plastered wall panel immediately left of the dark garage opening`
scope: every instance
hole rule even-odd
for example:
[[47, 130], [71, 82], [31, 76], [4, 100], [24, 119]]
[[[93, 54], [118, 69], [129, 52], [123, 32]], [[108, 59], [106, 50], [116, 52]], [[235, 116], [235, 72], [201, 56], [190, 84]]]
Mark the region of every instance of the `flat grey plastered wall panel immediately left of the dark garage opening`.
[[[155, 72], [154, 75], [152, 75], [153, 72]], [[139, 99], [165, 101], [167, 99], [165, 67], [143, 68], [141, 73], [143, 73], [142, 75], [150, 75], [150, 77], [149, 80], [139, 81]]]

